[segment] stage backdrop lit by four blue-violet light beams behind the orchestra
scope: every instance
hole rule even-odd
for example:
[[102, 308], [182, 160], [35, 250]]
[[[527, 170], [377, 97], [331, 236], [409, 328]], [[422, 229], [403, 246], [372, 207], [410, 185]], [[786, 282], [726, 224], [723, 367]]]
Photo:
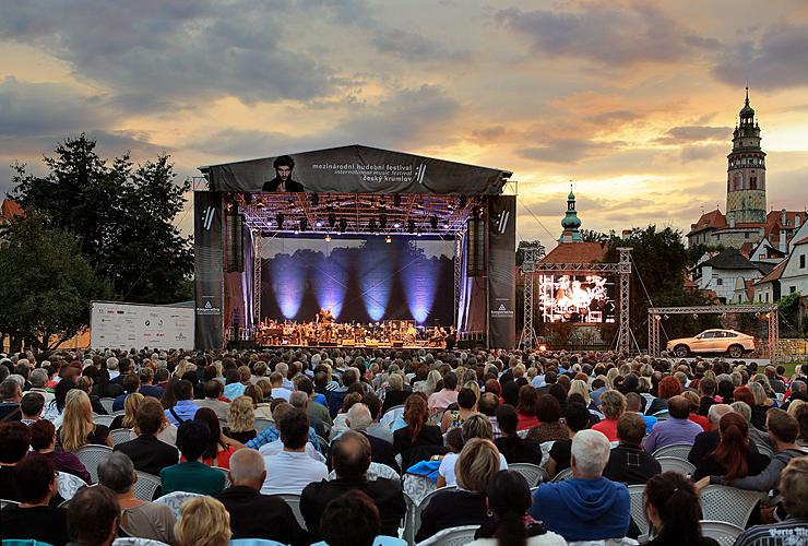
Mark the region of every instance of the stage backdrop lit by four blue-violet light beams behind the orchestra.
[[261, 320], [454, 322], [454, 239], [395, 236], [263, 237]]

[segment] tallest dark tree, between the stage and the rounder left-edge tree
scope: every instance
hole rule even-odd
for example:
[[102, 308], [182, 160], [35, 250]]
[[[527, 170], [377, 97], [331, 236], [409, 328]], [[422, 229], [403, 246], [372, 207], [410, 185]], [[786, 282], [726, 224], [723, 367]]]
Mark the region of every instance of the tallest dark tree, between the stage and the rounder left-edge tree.
[[175, 226], [190, 185], [175, 181], [168, 155], [140, 165], [128, 154], [109, 161], [81, 134], [59, 143], [44, 163], [41, 177], [15, 166], [13, 198], [50, 227], [74, 234], [116, 297], [148, 304], [192, 297], [191, 237]]

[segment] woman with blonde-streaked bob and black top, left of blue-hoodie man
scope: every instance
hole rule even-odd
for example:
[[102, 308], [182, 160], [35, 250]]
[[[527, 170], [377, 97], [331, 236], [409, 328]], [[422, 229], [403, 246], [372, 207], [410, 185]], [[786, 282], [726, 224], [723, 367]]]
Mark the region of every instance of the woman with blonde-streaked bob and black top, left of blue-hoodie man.
[[432, 497], [420, 513], [420, 529], [415, 541], [425, 541], [443, 529], [490, 521], [485, 492], [499, 472], [499, 451], [494, 442], [483, 438], [468, 440], [454, 467], [458, 489], [440, 491]]

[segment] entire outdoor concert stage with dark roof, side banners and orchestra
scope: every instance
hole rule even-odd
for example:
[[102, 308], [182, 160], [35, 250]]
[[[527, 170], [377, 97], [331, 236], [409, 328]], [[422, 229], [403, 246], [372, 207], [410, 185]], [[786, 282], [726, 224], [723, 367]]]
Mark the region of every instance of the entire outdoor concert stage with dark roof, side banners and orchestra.
[[200, 170], [198, 348], [515, 345], [511, 173], [360, 145]]

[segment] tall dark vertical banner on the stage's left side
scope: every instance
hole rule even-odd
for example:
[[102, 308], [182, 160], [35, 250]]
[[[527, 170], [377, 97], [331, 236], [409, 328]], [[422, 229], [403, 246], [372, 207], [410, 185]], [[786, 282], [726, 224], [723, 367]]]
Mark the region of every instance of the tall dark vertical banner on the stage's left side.
[[193, 192], [197, 348], [222, 348], [224, 246], [222, 194]]

